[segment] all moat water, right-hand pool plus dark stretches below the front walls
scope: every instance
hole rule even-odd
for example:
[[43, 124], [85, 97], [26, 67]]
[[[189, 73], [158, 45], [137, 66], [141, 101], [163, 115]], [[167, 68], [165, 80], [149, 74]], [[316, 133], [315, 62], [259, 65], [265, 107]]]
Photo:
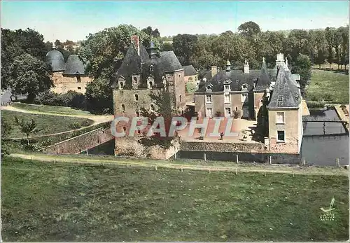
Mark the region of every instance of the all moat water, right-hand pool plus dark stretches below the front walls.
[[[310, 110], [310, 120], [339, 120], [337, 113], [333, 109]], [[349, 137], [342, 123], [325, 123], [325, 134], [340, 134], [336, 136], [323, 135], [323, 123], [304, 123], [304, 137], [300, 158], [304, 158], [309, 165], [336, 165], [339, 158], [341, 165], [348, 165], [349, 161]], [[309, 135], [314, 135], [309, 137]], [[113, 155], [114, 140], [108, 141], [95, 148], [91, 148], [88, 153], [94, 155]], [[186, 152], [186, 153], [183, 153]], [[183, 151], [178, 153], [178, 158], [202, 158], [202, 152]], [[86, 153], [86, 152], [83, 152]], [[199, 153], [197, 155], [197, 153]], [[198, 158], [197, 158], [198, 157]], [[207, 155], [207, 159], [232, 160], [231, 153], [213, 153]], [[284, 159], [282, 159], [284, 160]], [[301, 159], [300, 159], [301, 160]], [[283, 163], [283, 161], [281, 161]]]

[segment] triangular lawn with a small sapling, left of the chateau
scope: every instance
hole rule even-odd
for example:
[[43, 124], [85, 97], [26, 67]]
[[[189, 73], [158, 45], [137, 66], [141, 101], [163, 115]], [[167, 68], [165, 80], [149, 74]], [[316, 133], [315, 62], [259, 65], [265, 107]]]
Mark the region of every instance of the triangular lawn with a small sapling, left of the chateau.
[[[20, 127], [14, 125], [15, 116], [20, 119], [36, 121], [38, 129], [42, 129], [38, 132], [40, 134], [52, 134], [57, 132], [64, 132], [73, 130], [75, 128], [84, 127], [87, 125], [92, 125], [93, 121], [86, 118], [74, 118], [66, 116], [46, 116], [46, 115], [36, 115], [31, 113], [22, 113], [17, 111], [1, 111], [1, 118], [8, 124], [12, 126], [8, 138], [14, 137], [25, 137], [25, 134], [20, 132]], [[31, 134], [35, 135], [35, 134]]]

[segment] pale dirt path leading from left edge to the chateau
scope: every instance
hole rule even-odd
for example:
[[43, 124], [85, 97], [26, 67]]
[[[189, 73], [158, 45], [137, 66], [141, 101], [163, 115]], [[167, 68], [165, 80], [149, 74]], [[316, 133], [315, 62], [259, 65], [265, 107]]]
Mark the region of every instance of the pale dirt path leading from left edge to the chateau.
[[47, 115], [47, 116], [69, 116], [69, 117], [76, 117], [76, 118], [87, 118], [94, 121], [92, 125], [97, 125], [99, 123], [106, 123], [113, 120], [113, 115], [99, 116], [99, 115], [57, 114], [57, 113], [41, 112], [41, 111], [29, 111], [25, 109], [19, 109], [13, 106], [1, 106], [1, 110], [17, 111], [22, 113], [31, 113], [31, 114]]

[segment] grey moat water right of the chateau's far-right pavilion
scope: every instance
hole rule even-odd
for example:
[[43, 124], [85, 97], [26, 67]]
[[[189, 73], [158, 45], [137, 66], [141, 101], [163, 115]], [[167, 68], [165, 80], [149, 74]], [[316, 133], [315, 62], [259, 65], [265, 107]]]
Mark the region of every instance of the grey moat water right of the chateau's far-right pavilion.
[[[309, 120], [339, 120], [334, 109], [310, 110]], [[342, 123], [325, 123], [325, 134], [342, 134], [336, 136], [323, 135], [323, 123], [304, 123], [301, 156], [311, 165], [340, 165], [349, 163], [349, 135]], [[315, 135], [309, 137], [308, 135]]]

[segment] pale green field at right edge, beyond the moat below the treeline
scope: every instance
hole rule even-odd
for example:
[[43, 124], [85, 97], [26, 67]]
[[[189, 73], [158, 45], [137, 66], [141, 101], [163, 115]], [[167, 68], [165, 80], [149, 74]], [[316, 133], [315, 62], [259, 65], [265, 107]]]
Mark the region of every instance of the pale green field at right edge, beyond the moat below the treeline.
[[335, 71], [311, 70], [307, 99], [337, 104], [349, 104], [349, 75]]

